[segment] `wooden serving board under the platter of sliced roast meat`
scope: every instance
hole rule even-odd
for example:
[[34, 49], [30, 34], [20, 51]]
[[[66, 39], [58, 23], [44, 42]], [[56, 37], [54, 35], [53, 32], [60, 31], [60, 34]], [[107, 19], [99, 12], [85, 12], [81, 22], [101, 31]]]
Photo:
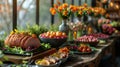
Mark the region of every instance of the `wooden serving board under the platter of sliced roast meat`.
[[[36, 60], [39, 58], [43, 58], [45, 56], [49, 56], [49, 55], [55, 53], [56, 51], [57, 51], [56, 48], [51, 48], [47, 51], [35, 54], [33, 56], [17, 56], [17, 55], [7, 55], [7, 54], [5, 54], [4, 56], [8, 58], [7, 61], [10, 61], [15, 64], [21, 64], [23, 61]], [[5, 61], [5, 60], [3, 60], [3, 61]]]

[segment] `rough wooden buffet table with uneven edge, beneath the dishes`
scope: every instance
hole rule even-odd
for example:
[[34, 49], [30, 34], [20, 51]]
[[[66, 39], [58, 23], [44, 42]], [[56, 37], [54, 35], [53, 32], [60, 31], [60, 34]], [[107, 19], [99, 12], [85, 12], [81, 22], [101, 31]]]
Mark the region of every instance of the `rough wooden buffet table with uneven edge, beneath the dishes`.
[[[68, 60], [60, 65], [60, 67], [98, 67], [100, 60], [108, 54], [112, 54], [111, 61], [114, 61], [115, 59], [115, 52], [114, 52], [114, 41], [115, 39], [108, 40], [105, 44], [98, 44], [96, 46], [96, 50], [91, 54], [73, 54], [70, 55]], [[5, 55], [10, 56], [10, 55]], [[12, 57], [12, 56], [10, 56]], [[15, 57], [14, 57], [15, 58]], [[19, 59], [21, 57], [17, 57]], [[27, 59], [29, 57], [25, 57], [24, 59]], [[12, 60], [12, 62], [17, 62], [17, 60]], [[7, 66], [5, 64], [5, 66]], [[34, 67], [34, 63], [32, 67]]]

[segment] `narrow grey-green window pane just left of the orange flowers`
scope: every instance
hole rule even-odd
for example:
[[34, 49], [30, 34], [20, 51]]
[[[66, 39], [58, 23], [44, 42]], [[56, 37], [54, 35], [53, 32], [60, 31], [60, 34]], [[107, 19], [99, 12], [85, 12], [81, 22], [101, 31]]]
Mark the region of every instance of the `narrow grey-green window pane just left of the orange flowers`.
[[51, 7], [51, 0], [40, 0], [40, 25], [50, 25], [51, 15], [49, 8]]

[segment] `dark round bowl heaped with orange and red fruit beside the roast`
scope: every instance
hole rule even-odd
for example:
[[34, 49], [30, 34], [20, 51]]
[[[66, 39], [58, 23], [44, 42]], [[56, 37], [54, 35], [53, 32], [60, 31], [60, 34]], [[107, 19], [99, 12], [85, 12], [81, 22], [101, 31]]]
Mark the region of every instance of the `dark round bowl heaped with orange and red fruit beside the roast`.
[[40, 34], [40, 40], [44, 43], [50, 43], [51, 47], [59, 47], [67, 41], [67, 35], [63, 32], [46, 32]]

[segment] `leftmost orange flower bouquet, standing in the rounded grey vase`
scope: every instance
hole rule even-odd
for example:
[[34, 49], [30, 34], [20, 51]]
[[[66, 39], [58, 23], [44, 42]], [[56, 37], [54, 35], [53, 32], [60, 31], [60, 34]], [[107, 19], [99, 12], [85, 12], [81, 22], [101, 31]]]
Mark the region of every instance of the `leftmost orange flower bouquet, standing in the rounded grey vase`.
[[68, 19], [74, 11], [76, 11], [76, 8], [73, 5], [68, 5], [68, 3], [61, 4], [60, 2], [58, 2], [57, 4], [54, 4], [53, 7], [50, 8], [50, 13], [52, 15], [58, 13], [58, 15], [62, 19]]

